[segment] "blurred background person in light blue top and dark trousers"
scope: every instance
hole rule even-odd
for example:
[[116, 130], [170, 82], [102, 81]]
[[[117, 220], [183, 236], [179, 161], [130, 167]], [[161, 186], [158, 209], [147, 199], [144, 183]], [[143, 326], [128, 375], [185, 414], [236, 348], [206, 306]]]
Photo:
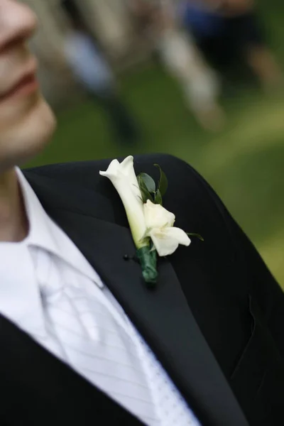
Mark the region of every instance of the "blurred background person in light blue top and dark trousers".
[[75, 1], [63, 0], [62, 9], [70, 22], [65, 35], [65, 60], [75, 79], [107, 115], [114, 141], [136, 143], [139, 131], [129, 109], [121, 100], [116, 77], [87, 28]]

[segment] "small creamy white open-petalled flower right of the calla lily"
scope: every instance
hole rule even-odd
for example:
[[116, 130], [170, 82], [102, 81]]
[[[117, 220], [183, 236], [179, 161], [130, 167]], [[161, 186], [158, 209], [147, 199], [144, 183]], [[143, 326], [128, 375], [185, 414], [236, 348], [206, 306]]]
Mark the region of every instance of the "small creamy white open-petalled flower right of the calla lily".
[[190, 245], [190, 238], [185, 231], [173, 226], [175, 215], [168, 212], [160, 204], [153, 204], [150, 200], [144, 204], [144, 217], [146, 222], [146, 235], [151, 237], [159, 256], [169, 256], [178, 245]]

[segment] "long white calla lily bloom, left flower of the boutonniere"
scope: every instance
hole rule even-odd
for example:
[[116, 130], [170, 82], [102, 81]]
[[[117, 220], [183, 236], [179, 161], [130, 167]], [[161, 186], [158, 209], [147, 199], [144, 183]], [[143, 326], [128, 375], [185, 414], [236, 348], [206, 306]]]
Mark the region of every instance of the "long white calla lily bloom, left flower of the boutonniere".
[[129, 155], [121, 163], [118, 160], [111, 161], [107, 171], [101, 171], [99, 174], [109, 178], [119, 193], [137, 249], [147, 246], [143, 200], [133, 168], [133, 156]]

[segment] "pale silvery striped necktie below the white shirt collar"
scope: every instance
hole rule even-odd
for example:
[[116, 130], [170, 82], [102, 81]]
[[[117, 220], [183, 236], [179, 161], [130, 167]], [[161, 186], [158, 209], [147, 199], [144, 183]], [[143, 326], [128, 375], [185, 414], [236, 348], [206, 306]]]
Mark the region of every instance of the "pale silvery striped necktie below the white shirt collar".
[[[45, 326], [55, 354], [131, 411], [146, 425], [158, 425], [151, 389], [127, 323], [114, 316], [102, 290], [88, 295], [76, 275], [62, 277], [60, 265], [46, 251], [36, 251], [36, 271]], [[95, 287], [95, 285], [94, 285]], [[45, 344], [45, 342], [43, 342]]]

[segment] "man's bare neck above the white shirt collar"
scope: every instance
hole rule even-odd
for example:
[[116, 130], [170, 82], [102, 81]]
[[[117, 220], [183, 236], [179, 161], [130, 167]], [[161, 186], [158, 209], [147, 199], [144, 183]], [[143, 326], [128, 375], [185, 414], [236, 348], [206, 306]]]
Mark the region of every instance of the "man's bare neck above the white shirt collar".
[[0, 174], [0, 241], [22, 241], [28, 234], [28, 220], [16, 170]]

